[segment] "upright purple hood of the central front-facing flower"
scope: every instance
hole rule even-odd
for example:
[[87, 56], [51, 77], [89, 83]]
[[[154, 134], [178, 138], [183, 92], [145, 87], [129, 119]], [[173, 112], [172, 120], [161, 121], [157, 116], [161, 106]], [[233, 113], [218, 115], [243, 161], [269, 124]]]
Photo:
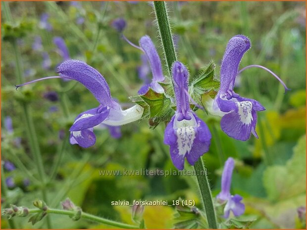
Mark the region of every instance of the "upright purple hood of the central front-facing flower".
[[174, 91], [177, 104], [177, 113], [180, 115], [179, 121], [190, 120], [188, 115], [190, 109], [188, 92], [189, 72], [187, 68], [179, 61], [176, 61], [172, 67], [172, 76], [174, 79]]

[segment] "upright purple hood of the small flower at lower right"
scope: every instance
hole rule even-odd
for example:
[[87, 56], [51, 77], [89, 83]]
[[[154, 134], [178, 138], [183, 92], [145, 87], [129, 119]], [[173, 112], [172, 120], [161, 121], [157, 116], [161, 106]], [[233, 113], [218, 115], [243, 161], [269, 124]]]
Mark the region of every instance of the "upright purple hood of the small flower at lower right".
[[222, 174], [221, 192], [216, 196], [218, 200], [225, 201], [230, 198], [230, 185], [232, 172], [235, 167], [235, 161], [232, 157], [229, 157], [224, 165]]

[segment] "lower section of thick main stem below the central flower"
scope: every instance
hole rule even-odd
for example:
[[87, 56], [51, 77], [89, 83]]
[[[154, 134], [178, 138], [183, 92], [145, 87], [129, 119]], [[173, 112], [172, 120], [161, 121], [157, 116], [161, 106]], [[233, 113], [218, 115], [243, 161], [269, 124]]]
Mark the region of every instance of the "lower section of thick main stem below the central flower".
[[205, 170], [202, 158], [198, 159], [198, 161], [195, 162], [194, 169], [196, 172], [198, 185], [200, 187], [200, 191], [202, 194], [202, 201], [205, 207], [205, 214], [207, 217], [209, 229], [217, 229], [216, 216], [215, 216], [210, 185], [207, 179], [207, 172]]

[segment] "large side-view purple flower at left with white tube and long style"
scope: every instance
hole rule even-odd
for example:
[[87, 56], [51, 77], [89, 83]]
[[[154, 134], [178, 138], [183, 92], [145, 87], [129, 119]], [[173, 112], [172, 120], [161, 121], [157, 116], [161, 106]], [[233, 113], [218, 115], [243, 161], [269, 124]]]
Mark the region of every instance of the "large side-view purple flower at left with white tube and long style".
[[84, 148], [90, 147], [96, 142], [96, 136], [93, 132], [95, 126], [101, 123], [109, 126], [121, 126], [137, 121], [142, 117], [144, 109], [140, 105], [122, 110], [119, 103], [111, 97], [109, 86], [103, 76], [85, 62], [66, 60], [59, 65], [57, 73], [59, 76], [34, 80], [16, 87], [46, 79], [62, 78], [80, 82], [92, 92], [100, 105], [97, 108], [80, 113], [76, 117], [69, 130], [71, 144], [79, 144]]

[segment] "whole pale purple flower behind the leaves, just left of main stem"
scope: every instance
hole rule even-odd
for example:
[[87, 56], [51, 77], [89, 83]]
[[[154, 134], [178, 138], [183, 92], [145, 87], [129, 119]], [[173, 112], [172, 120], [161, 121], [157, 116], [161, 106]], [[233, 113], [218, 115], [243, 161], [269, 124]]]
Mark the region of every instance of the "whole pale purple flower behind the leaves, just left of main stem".
[[[141, 49], [146, 54], [146, 57], [151, 65], [152, 73], [153, 73], [153, 80], [151, 83], [147, 83], [148, 81], [145, 81], [145, 85], [141, 87], [138, 93], [143, 95], [149, 90], [149, 88], [153, 89], [153, 91], [155, 92], [163, 93], [164, 89], [160, 86], [159, 82], [163, 82], [165, 77], [162, 71], [161, 60], [153, 45], [153, 41], [151, 40], [149, 36], [146, 35], [140, 39], [139, 43], [140, 43]], [[143, 59], [142, 62], [143, 62], [142, 71], [146, 73], [147, 69], [144, 65], [145, 60]], [[145, 76], [143, 75], [142, 77], [145, 77]]]

